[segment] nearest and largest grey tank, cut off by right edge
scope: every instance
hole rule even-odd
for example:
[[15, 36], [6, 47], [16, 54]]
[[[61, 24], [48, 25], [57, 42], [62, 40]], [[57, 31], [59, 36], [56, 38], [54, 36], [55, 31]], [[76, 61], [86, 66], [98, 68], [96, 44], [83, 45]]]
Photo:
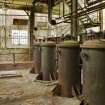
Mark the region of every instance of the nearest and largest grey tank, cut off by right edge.
[[84, 101], [105, 105], [105, 40], [89, 40], [81, 47]]

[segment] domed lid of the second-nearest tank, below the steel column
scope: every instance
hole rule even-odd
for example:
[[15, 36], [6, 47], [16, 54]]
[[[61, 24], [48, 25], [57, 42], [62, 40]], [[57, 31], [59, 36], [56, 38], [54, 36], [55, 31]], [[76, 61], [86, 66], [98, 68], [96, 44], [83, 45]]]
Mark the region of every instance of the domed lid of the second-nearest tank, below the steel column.
[[79, 47], [79, 43], [74, 40], [68, 40], [57, 44], [58, 47]]

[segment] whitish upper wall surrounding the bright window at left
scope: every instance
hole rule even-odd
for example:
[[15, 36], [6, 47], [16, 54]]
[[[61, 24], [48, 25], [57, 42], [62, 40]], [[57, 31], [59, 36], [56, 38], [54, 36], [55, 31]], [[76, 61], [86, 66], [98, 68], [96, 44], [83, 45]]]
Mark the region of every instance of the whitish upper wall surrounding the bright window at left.
[[[6, 14], [6, 16], [5, 16]], [[16, 15], [16, 16], [15, 16]], [[28, 25], [13, 25], [13, 19], [28, 19], [28, 16], [24, 11], [20, 10], [10, 10], [10, 9], [0, 9], [0, 47], [1, 48], [13, 48], [13, 47], [28, 47], [28, 46], [13, 46], [11, 43], [11, 33], [12, 30], [28, 30]], [[6, 40], [6, 41], [5, 41]], [[5, 45], [6, 44], [6, 45]]]

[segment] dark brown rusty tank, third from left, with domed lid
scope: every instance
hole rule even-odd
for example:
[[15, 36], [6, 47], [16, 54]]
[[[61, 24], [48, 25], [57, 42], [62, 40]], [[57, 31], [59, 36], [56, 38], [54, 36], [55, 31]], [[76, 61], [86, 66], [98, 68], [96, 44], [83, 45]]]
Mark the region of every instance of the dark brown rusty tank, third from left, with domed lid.
[[61, 96], [72, 97], [73, 90], [80, 89], [81, 72], [80, 72], [80, 46], [75, 41], [65, 41], [57, 45], [58, 74], [61, 85]]

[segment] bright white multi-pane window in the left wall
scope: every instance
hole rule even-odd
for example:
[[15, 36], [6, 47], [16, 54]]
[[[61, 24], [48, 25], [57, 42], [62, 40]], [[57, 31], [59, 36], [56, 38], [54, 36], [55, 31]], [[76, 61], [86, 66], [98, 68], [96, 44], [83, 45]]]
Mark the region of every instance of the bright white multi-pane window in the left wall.
[[12, 45], [28, 45], [28, 31], [12, 30]]

